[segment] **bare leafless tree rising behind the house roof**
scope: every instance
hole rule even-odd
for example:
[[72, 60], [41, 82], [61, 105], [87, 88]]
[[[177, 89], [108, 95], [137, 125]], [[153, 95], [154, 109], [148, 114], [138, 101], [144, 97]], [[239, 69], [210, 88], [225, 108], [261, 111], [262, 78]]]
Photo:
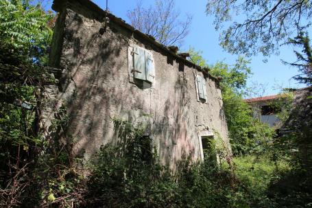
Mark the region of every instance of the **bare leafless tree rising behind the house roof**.
[[156, 38], [163, 45], [181, 45], [189, 33], [192, 17], [187, 15], [181, 21], [180, 12], [175, 10], [174, 0], [155, 0], [154, 6], [143, 8], [139, 1], [133, 10], [128, 11], [128, 18], [133, 27]]

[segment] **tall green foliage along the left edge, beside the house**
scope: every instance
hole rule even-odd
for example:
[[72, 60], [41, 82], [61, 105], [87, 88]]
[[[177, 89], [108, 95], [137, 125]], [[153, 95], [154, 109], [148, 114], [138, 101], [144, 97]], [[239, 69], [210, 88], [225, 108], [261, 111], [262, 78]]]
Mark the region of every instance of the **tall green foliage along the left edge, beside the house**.
[[23, 147], [25, 153], [40, 140], [36, 106], [40, 83], [46, 76], [33, 60], [39, 62], [46, 55], [51, 41], [49, 19], [50, 14], [27, 1], [0, 1], [0, 145], [6, 152], [6, 158], [1, 159], [4, 166], [15, 159], [10, 150], [18, 154]]

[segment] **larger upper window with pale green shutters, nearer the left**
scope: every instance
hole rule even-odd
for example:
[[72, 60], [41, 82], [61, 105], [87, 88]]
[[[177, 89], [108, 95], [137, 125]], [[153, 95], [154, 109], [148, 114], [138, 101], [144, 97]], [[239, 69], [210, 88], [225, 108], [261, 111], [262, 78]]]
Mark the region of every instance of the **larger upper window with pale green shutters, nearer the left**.
[[152, 53], [141, 47], [133, 47], [132, 50], [133, 77], [150, 83], [154, 82], [155, 67]]

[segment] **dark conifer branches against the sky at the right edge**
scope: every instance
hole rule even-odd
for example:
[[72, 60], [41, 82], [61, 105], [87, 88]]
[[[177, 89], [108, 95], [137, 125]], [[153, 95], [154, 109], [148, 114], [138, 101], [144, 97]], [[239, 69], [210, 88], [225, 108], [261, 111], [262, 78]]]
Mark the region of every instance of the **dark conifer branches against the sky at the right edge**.
[[296, 50], [293, 51], [297, 57], [295, 62], [282, 60], [283, 63], [292, 67], [298, 67], [298, 71], [302, 72], [302, 74], [294, 77], [295, 80], [305, 84], [312, 84], [312, 49], [309, 34], [301, 31], [295, 38], [289, 38], [286, 44], [302, 47], [302, 51], [301, 53]]

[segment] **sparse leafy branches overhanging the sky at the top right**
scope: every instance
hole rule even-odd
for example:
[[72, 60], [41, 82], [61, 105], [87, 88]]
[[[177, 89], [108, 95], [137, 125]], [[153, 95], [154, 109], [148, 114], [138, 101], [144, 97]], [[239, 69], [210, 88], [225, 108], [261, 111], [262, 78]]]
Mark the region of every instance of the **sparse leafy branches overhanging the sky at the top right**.
[[[300, 27], [309, 25], [312, 6], [309, 0], [208, 0], [206, 13], [215, 16], [224, 49], [232, 54], [269, 56], [280, 43], [298, 34]], [[243, 21], [232, 21], [233, 14], [240, 14], [237, 18]], [[223, 30], [228, 21], [232, 23]]]

